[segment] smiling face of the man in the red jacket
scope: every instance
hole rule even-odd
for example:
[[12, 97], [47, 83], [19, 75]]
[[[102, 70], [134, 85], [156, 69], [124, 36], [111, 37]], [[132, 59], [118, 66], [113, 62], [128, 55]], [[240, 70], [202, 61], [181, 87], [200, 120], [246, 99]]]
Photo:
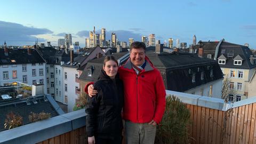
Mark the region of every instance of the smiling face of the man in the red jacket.
[[130, 52], [131, 62], [135, 66], [141, 66], [145, 62], [145, 51], [143, 48], [132, 49]]

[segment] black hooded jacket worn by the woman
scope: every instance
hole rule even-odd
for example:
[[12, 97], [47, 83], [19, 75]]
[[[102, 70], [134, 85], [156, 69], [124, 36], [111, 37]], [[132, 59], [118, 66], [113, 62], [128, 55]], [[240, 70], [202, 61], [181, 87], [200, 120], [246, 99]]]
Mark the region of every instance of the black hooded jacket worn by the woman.
[[86, 132], [88, 137], [112, 139], [121, 135], [123, 124], [121, 112], [124, 103], [123, 82], [118, 74], [115, 79], [101, 70], [99, 80], [94, 83], [98, 90], [95, 97], [89, 97], [86, 112]]

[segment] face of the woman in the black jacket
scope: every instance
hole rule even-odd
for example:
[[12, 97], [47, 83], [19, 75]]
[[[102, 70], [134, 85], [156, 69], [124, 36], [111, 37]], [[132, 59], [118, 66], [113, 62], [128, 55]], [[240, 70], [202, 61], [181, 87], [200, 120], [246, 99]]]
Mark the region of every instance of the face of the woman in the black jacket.
[[118, 70], [117, 63], [113, 60], [109, 60], [105, 63], [105, 66], [103, 66], [103, 70], [110, 78], [115, 78]]

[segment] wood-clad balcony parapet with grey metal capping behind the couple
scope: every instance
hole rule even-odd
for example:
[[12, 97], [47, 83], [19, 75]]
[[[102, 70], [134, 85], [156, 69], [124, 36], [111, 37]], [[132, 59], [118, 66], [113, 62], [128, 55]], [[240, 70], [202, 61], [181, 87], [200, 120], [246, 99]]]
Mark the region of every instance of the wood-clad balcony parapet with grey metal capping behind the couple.
[[[256, 97], [234, 103], [199, 95], [176, 95], [191, 112], [191, 143], [256, 143]], [[0, 143], [86, 143], [84, 109], [0, 132]]]

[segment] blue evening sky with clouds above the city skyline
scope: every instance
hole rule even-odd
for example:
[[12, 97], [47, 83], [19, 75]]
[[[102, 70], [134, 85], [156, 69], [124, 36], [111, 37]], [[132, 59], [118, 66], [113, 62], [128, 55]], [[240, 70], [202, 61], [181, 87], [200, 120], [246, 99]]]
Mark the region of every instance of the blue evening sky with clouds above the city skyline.
[[198, 41], [249, 43], [256, 49], [255, 0], [169, 1], [3, 1], [0, 8], [0, 45], [58, 44], [65, 34], [85, 46], [93, 26], [115, 32], [118, 41], [155, 34], [161, 43], [169, 38], [187, 45]]

